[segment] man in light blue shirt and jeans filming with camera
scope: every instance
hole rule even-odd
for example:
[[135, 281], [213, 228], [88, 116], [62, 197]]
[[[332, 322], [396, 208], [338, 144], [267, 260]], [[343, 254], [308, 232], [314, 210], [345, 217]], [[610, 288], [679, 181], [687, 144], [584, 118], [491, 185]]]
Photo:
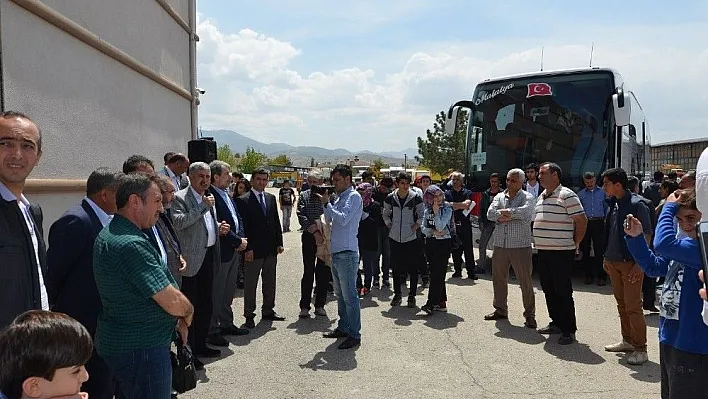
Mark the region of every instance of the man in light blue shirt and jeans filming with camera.
[[339, 324], [325, 338], [344, 338], [339, 349], [349, 349], [361, 343], [361, 308], [356, 291], [359, 269], [359, 221], [363, 212], [361, 195], [352, 187], [352, 168], [339, 164], [332, 171], [332, 184], [337, 192], [334, 203], [329, 195], [320, 195], [327, 222], [332, 223], [330, 252], [332, 278], [337, 295]]

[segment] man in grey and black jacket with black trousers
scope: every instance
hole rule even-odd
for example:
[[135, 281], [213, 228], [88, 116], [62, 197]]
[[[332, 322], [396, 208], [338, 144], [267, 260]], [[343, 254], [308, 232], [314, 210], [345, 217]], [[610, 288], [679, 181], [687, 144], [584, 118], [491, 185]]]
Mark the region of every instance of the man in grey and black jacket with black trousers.
[[415, 295], [418, 288], [418, 271], [424, 262], [422, 246], [416, 234], [423, 220], [423, 198], [410, 189], [411, 177], [399, 173], [396, 177], [394, 192], [384, 201], [383, 219], [390, 229], [388, 238], [391, 246], [393, 266], [393, 300], [391, 306], [401, 304], [401, 285], [410, 275], [408, 307], [415, 307]]

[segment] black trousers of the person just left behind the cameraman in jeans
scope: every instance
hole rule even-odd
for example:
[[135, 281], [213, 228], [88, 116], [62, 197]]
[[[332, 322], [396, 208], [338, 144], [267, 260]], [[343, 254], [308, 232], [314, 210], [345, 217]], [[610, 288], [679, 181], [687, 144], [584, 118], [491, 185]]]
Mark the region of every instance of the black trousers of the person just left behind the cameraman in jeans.
[[315, 281], [315, 307], [323, 307], [327, 301], [327, 286], [332, 271], [322, 259], [317, 258], [315, 236], [307, 231], [302, 233], [302, 263], [304, 269], [300, 280], [300, 309], [310, 310], [312, 285]]

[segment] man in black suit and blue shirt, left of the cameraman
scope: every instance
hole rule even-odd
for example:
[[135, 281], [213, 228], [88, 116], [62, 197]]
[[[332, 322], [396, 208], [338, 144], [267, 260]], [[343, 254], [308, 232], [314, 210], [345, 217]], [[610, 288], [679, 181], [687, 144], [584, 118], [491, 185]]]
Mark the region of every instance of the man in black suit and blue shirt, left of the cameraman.
[[283, 252], [283, 231], [278, 218], [275, 196], [265, 192], [268, 171], [256, 169], [251, 174], [251, 191], [236, 200], [243, 218], [244, 231], [248, 238], [244, 266], [243, 315], [246, 327], [254, 328], [256, 316], [256, 288], [262, 276], [263, 319], [282, 321], [284, 317], [275, 312], [275, 266], [278, 255]]

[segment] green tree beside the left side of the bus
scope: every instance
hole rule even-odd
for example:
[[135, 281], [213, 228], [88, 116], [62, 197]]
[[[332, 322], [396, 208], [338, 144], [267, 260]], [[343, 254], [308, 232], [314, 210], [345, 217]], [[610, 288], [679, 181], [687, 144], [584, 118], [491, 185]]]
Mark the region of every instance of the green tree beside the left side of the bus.
[[415, 160], [430, 168], [431, 172], [443, 174], [448, 169], [463, 171], [465, 167], [465, 138], [467, 132], [465, 110], [457, 112], [457, 126], [453, 134], [445, 133], [444, 111], [435, 115], [433, 129], [426, 131], [426, 138], [418, 137], [418, 153]]

